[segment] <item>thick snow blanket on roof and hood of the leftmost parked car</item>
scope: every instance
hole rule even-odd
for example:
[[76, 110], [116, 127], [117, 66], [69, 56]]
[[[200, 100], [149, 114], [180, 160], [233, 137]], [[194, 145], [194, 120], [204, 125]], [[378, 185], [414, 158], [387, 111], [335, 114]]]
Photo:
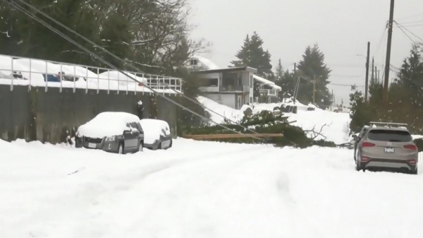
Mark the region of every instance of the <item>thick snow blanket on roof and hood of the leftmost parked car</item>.
[[127, 112], [102, 112], [91, 121], [78, 128], [79, 136], [104, 138], [118, 136], [129, 130], [126, 124], [139, 121], [140, 118]]

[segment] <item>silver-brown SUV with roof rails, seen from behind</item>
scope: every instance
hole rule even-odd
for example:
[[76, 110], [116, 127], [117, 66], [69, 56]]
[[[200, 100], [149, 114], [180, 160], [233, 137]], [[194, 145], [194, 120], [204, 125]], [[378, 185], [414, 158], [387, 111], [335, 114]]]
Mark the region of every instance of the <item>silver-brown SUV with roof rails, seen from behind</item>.
[[357, 171], [369, 168], [406, 169], [417, 174], [418, 150], [407, 124], [371, 122], [354, 135]]

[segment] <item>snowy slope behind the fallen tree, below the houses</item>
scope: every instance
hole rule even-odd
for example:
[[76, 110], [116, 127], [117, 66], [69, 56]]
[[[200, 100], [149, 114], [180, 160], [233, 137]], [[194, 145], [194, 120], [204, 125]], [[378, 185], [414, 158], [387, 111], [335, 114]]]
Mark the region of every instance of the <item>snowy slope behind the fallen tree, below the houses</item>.
[[[244, 117], [244, 113], [241, 110], [221, 105], [206, 97], [199, 97], [198, 100], [204, 106], [233, 121], [239, 121]], [[281, 103], [255, 104], [253, 113], [263, 110], [273, 112], [274, 107], [279, 107], [280, 105]], [[292, 103], [288, 105], [292, 105]], [[297, 102], [296, 105], [298, 106], [298, 114], [286, 114], [289, 117], [288, 121], [296, 121], [293, 125], [300, 126], [304, 130], [314, 129], [317, 132], [321, 131], [323, 136], [318, 136], [316, 139], [326, 139], [327, 141], [333, 141], [338, 144], [350, 141], [348, 135], [350, 114], [330, 112], [318, 108], [315, 111], [307, 111], [306, 105], [302, 105], [300, 102]], [[210, 112], [211, 119], [216, 122], [222, 122], [223, 117], [214, 112]]]

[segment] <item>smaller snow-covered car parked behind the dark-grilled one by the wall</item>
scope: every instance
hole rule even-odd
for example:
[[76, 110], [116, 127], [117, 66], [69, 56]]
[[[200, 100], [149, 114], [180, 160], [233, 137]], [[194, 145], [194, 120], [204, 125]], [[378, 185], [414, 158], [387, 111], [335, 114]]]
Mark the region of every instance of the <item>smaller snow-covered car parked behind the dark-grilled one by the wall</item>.
[[142, 119], [144, 130], [144, 147], [150, 150], [166, 150], [172, 147], [172, 134], [169, 124], [158, 119]]

